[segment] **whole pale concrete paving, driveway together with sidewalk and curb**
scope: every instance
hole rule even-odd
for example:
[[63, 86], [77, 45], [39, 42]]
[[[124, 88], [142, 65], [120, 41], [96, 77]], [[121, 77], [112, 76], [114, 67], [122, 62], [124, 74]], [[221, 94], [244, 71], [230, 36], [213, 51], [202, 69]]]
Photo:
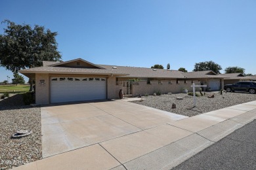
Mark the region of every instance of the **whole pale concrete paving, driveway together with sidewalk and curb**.
[[121, 100], [41, 109], [44, 159], [16, 169], [171, 169], [256, 118], [256, 101], [190, 118]]

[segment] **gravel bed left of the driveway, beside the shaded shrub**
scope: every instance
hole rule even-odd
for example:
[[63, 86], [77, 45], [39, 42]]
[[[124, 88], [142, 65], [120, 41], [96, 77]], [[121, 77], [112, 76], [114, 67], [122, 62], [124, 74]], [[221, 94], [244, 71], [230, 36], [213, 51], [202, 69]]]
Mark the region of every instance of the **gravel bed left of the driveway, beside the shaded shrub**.
[[[33, 133], [11, 139], [19, 129]], [[0, 169], [11, 169], [42, 158], [41, 114], [39, 107], [26, 106], [22, 95], [0, 100]]]

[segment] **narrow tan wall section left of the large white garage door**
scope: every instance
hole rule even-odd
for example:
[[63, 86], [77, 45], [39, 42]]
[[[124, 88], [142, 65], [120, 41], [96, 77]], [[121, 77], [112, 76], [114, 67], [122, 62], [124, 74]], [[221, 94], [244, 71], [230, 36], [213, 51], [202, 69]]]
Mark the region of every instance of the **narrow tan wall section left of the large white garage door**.
[[49, 74], [35, 74], [35, 103], [40, 105], [50, 103]]

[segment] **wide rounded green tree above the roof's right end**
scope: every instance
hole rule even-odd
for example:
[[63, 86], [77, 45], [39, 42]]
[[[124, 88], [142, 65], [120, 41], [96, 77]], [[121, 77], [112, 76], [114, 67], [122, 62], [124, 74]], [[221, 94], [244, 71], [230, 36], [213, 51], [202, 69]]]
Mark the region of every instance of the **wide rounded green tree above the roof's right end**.
[[205, 61], [200, 63], [195, 63], [193, 71], [214, 71], [217, 74], [220, 74], [220, 70], [222, 70], [221, 65], [213, 62], [213, 61]]

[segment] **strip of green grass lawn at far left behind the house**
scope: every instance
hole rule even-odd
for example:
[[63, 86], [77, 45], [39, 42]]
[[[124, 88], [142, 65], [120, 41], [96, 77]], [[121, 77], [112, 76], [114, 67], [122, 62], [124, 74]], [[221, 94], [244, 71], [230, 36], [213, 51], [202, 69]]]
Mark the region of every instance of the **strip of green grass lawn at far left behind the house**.
[[20, 93], [28, 92], [30, 90], [30, 85], [0, 85], [0, 93]]

